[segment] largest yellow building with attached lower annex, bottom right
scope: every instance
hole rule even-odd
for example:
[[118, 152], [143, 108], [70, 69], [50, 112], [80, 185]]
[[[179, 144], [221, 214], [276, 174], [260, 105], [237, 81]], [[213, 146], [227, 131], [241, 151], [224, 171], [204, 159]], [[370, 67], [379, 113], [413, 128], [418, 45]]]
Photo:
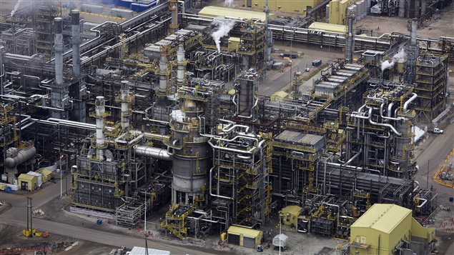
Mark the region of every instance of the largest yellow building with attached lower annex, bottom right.
[[350, 254], [388, 255], [395, 249], [423, 254], [435, 244], [435, 229], [421, 226], [410, 209], [395, 204], [374, 204], [350, 229]]

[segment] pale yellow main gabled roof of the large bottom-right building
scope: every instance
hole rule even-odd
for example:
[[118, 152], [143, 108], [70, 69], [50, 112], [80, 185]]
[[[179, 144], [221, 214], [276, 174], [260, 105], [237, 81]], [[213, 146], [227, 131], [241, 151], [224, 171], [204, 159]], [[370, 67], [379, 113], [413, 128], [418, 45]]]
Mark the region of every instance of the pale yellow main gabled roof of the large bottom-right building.
[[411, 210], [395, 204], [374, 204], [357, 219], [351, 228], [370, 228], [390, 234]]

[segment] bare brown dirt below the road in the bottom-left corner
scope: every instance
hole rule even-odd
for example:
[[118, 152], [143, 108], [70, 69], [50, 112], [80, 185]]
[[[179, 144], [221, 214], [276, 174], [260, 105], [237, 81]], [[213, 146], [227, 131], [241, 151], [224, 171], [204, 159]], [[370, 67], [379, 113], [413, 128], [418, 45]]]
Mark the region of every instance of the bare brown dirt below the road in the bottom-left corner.
[[[35, 250], [46, 249], [47, 254], [109, 254], [114, 247], [99, 245], [91, 241], [79, 241], [66, 236], [50, 234], [48, 238], [22, 235], [22, 229], [16, 226], [0, 224], [0, 251], [7, 249], [20, 249], [16, 254], [34, 254]], [[64, 251], [66, 246], [76, 244], [69, 251]]]

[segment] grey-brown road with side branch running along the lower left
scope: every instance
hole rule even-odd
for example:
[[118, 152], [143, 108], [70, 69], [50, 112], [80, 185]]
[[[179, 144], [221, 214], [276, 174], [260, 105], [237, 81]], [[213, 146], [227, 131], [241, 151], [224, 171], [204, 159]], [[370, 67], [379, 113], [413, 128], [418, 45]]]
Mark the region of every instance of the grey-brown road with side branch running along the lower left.
[[[63, 180], [64, 181], [64, 180]], [[59, 180], [56, 184], [50, 184], [44, 189], [40, 189], [31, 195], [33, 198], [32, 205], [35, 208], [43, 206], [52, 199], [60, 195]], [[65, 187], [63, 185], [63, 187]], [[14, 226], [22, 226], [26, 228], [26, 196], [18, 194], [6, 194], [0, 192], [0, 200], [7, 201], [11, 204], [11, 209], [5, 211], [4, 214], [0, 214], [0, 224], [9, 224]], [[126, 246], [132, 248], [133, 246], [144, 246], [144, 239], [134, 238], [132, 236], [111, 234], [106, 231], [99, 231], [95, 229], [82, 228], [80, 226], [72, 226], [70, 224], [64, 224], [54, 221], [46, 221], [44, 219], [33, 219], [34, 229], [45, 229], [51, 234], [59, 234], [61, 236], [69, 236], [80, 240], [94, 241], [99, 244], [107, 244], [109, 246]], [[212, 253], [206, 253], [197, 249], [191, 249], [191, 247], [177, 246], [166, 244], [162, 241], [149, 240], [149, 248], [161, 249], [170, 251], [172, 254], [201, 254], [208, 255]]]

